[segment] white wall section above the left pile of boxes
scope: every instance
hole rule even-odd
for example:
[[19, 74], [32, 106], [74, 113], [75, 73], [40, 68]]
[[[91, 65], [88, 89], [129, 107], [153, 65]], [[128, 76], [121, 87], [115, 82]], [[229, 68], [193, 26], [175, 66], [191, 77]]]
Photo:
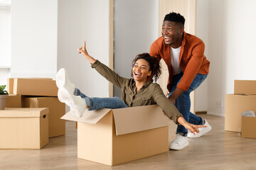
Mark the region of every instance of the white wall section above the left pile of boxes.
[[11, 1], [11, 77], [55, 77], [57, 0]]

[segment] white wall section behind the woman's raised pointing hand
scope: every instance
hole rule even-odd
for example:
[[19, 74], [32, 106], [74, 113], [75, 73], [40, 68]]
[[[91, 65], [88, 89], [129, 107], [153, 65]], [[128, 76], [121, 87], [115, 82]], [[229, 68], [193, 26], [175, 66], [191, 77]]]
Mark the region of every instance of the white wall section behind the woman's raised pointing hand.
[[58, 1], [58, 69], [64, 67], [70, 80], [87, 96], [108, 97], [108, 81], [80, 54], [86, 40], [92, 57], [109, 64], [109, 1]]

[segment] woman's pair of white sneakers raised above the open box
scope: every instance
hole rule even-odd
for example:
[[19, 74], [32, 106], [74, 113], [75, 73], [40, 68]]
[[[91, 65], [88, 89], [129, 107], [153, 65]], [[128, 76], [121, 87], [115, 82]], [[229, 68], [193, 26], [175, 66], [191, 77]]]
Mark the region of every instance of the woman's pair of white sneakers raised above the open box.
[[65, 69], [60, 69], [56, 76], [56, 84], [58, 86], [58, 99], [60, 102], [70, 106], [73, 113], [82, 117], [85, 111], [86, 103], [85, 100], [80, 96], [75, 96], [75, 85], [68, 79], [68, 74]]

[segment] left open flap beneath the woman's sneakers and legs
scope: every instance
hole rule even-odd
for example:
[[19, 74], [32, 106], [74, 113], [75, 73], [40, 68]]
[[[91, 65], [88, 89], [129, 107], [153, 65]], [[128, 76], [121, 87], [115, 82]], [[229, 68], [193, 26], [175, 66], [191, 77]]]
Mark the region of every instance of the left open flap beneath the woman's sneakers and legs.
[[65, 115], [63, 115], [63, 117], [61, 117], [61, 119], [82, 122], [82, 123], [96, 124], [100, 119], [102, 119], [110, 111], [111, 111], [111, 109], [109, 109], [109, 108], [103, 108], [98, 111], [85, 110], [85, 112], [83, 113], [81, 118], [78, 118], [73, 113], [68, 112]]

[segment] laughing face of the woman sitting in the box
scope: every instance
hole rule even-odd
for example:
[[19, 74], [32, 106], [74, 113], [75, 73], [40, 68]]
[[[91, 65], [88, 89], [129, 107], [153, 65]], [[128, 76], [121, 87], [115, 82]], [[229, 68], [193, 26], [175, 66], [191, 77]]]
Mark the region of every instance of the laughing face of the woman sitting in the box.
[[149, 63], [144, 59], [139, 59], [135, 62], [134, 67], [132, 67], [132, 74], [135, 81], [145, 81], [147, 77], [151, 75], [149, 71]]

